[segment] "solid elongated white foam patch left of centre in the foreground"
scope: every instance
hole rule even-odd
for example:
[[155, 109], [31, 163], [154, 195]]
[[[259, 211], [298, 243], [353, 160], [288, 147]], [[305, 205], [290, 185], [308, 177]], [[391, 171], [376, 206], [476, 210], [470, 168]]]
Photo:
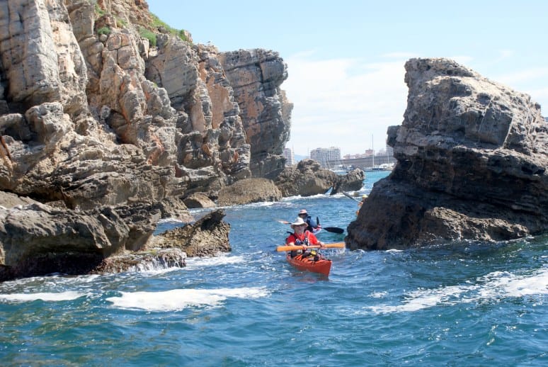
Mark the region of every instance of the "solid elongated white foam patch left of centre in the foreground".
[[216, 307], [229, 297], [260, 298], [266, 288], [173, 289], [165, 292], [121, 292], [107, 298], [114, 307], [130, 310], [176, 311], [186, 307]]

